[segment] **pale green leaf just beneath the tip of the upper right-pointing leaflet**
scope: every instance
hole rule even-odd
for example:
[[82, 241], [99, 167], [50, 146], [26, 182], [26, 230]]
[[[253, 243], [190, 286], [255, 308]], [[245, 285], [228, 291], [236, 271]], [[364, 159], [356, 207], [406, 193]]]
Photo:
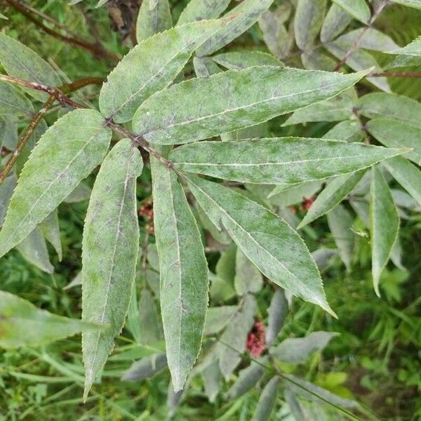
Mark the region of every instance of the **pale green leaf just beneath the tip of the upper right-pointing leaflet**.
[[330, 100], [318, 102], [308, 107], [298, 109], [283, 123], [283, 127], [309, 121], [342, 121], [352, 116], [352, 108], [356, 102], [354, 88], [336, 95]]

